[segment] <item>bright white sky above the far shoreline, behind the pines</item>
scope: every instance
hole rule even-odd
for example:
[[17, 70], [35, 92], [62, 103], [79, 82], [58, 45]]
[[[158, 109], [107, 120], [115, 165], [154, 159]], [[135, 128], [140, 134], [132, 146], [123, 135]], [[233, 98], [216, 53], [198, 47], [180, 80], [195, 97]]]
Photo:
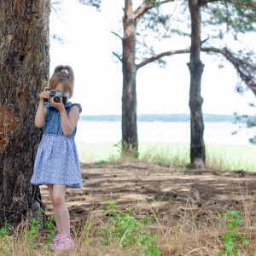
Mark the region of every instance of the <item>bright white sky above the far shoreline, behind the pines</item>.
[[[96, 12], [76, 0], [64, 0], [59, 15], [51, 12], [50, 34], [63, 38], [64, 44], [50, 39], [50, 75], [57, 65], [73, 67], [71, 101], [82, 105], [82, 114], [121, 114], [122, 67], [112, 54], [121, 48], [121, 40], [112, 31], [119, 32], [121, 27], [123, 3], [102, 0], [102, 10]], [[182, 42], [173, 44], [172, 49], [180, 49]], [[165, 44], [162, 47], [161, 51], [169, 50]], [[165, 69], [152, 63], [138, 70], [137, 114], [189, 113], [189, 55], [165, 60]], [[255, 103], [255, 96], [250, 90], [243, 96], [236, 93], [236, 70], [229, 63], [219, 69], [219, 61], [204, 54], [201, 61], [205, 64], [203, 113], [255, 113], [248, 106]]]

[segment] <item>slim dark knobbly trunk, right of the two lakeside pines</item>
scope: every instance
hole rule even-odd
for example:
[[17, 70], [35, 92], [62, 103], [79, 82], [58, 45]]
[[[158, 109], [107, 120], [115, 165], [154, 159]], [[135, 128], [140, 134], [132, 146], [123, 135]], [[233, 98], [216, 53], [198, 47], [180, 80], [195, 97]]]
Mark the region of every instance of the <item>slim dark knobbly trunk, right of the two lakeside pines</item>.
[[201, 7], [198, 0], [189, 0], [191, 14], [191, 52], [188, 63], [190, 72], [189, 108], [190, 108], [190, 161], [197, 169], [205, 167], [206, 152], [204, 143], [204, 122], [201, 106], [201, 76], [204, 65], [200, 59], [201, 53]]

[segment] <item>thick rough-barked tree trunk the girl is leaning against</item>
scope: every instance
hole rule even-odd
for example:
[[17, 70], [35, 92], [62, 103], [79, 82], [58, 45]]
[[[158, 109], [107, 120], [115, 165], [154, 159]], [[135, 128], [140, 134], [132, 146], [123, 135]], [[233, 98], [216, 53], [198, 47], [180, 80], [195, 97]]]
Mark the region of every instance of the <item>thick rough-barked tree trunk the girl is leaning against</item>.
[[38, 93], [49, 78], [49, 9], [49, 0], [0, 2], [0, 226], [39, 214], [30, 179]]

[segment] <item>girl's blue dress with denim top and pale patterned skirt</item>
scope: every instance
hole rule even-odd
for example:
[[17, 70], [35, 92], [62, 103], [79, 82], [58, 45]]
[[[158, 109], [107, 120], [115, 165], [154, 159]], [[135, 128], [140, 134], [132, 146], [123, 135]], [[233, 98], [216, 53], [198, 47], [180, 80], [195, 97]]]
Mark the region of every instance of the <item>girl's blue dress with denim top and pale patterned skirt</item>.
[[[79, 108], [79, 113], [82, 112], [80, 104], [67, 102], [65, 105], [67, 114], [73, 106]], [[51, 107], [49, 103], [45, 104], [45, 108], [47, 119], [38, 147], [31, 183], [34, 185], [65, 184], [68, 188], [81, 188], [79, 155], [74, 141], [77, 127], [72, 135], [65, 137], [61, 131], [59, 110]]]

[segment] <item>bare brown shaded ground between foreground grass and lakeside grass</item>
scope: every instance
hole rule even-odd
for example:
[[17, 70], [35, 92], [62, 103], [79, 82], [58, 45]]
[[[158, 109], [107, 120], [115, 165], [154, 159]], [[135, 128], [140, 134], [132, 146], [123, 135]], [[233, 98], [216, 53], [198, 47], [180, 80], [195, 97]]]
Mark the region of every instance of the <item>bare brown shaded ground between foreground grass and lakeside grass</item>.
[[[119, 207], [143, 207], [154, 202], [158, 212], [183, 207], [242, 207], [256, 195], [256, 175], [246, 172], [177, 171], [137, 161], [117, 164], [82, 164], [83, 189], [68, 189], [71, 219], [101, 211], [110, 201]], [[50, 211], [47, 189], [41, 188]], [[152, 207], [152, 204], [150, 204]], [[152, 209], [151, 209], [152, 210]]]

